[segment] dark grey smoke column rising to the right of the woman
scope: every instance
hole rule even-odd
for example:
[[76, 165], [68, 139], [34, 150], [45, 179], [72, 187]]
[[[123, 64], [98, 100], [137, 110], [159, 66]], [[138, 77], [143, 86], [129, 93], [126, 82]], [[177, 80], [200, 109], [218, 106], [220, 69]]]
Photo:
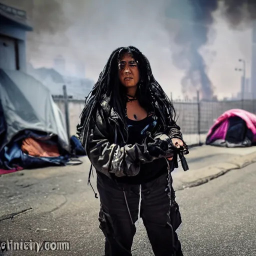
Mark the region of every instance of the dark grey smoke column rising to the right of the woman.
[[182, 92], [186, 95], [199, 90], [204, 99], [213, 96], [213, 86], [199, 50], [207, 42], [208, 30], [213, 22], [212, 13], [217, 7], [216, 1], [207, 1], [205, 5], [203, 0], [197, 0], [193, 4], [191, 0], [174, 0], [171, 4], [169, 16], [173, 17], [175, 13], [174, 17], [178, 19], [178, 32], [174, 42], [179, 45], [172, 57], [174, 64], [185, 71], [181, 85]]

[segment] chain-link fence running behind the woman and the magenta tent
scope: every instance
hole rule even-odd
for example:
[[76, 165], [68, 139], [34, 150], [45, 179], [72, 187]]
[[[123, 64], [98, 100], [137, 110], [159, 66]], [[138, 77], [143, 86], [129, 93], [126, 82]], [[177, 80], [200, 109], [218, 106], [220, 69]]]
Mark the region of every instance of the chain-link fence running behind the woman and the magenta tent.
[[[70, 135], [76, 133], [76, 125], [79, 115], [84, 106], [84, 100], [68, 98], [68, 107], [65, 108], [65, 99], [54, 98], [66, 116], [69, 123]], [[232, 101], [177, 101], [173, 100], [176, 111], [177, 124], [181, 127], [184, 140], [187, 144], [200, 144], [205, 142], [206, 133], [214, 121], [223, 112], [233, 108], [240, 108], [255, 113], [255, 100], [232, 100]], [[67, 113], [67, 114], [66, 114]]]

